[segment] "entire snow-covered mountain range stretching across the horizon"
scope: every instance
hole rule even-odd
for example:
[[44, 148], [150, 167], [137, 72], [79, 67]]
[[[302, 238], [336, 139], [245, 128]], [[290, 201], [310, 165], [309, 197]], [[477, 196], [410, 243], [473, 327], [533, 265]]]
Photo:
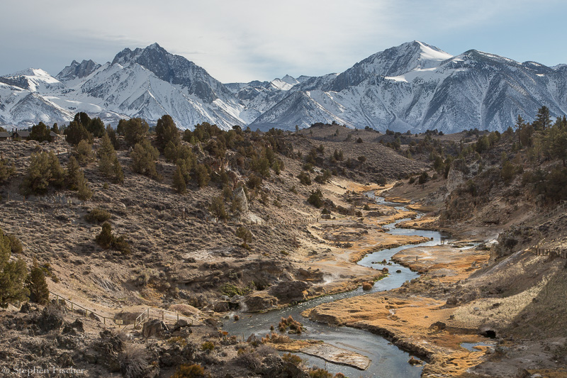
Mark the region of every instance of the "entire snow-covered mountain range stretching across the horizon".
[[567, 65], [519, 63], [477, 50], [452, 56], [413, 41], [377, 52], [340, 74], [220, 83], [157, 43], [118, 52], [112, 62], [71, 65], [52, 77], [28, 69], [0, 77], [0, 126], [68, 123], [85, 111], [116, 124], [169, 114], [180, 128], [287, 130], [333, 121], [354, 128], [451, 133], [505, 130], [548, 106], [567, 114]]

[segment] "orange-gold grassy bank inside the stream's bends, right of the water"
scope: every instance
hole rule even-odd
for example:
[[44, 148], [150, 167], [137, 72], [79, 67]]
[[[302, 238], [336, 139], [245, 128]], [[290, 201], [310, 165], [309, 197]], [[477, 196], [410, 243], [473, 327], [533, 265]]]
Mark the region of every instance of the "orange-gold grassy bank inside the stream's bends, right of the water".
[[[437, 253], [438, 250], [441, 252]], [[491, 348], [483, 346], [470, 351], [461, 347], [461, 343], [480, 343], [484, 338], [476, 328], [447, 326], [455, 308], [447, 304], [447, 294], [439, 294], [448, 292], [449, 284], [478, 270], [488, 260], [488, 253], [449, 246], [418, 247], [398, 252], [393, 260], [420, 270], [422, 276], [399, 289], [322, 304], [303, 315], [313, 321], [361, 328], [388, 338], [427, 361], [424, 377], [455, 377], [481, 363]]]

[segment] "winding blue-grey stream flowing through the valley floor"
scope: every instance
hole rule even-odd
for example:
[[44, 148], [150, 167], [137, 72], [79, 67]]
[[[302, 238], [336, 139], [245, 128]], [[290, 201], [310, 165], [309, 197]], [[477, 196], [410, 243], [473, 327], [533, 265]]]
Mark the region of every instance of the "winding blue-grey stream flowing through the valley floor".
[[[370, 198], [375, 199], [378, 204], [395, 206], [396, 209], [407, 210], [405, 206], [400, 206], [400, 204], [394, 204], [391, 202], [386, 202], [382, 197], [375, 197], [374, 191], [366, 193]], [[422, 214], [420, 214], [421, 216]], [[396, 228], [395, 226], [403, 221], [407, 221], [408, 218], [400, 219], [394, 223], [390, 223], [383, 228], [386, 228], [388, 233], [394, 235], [420, 235], [427, 238], [432, 238], [432, 240], [421, 243], [417, 245], [403, 245], [396, 248], [388, 248], [385, 250], [380, 250], [378, 252], [366, 255], [362, 260], [359, 261], [359, 265], [364, 265], [365, 267], [371, 267], [374, 269], [382, 269], [383, 265], [372, 264], [372, 262], [382, 261], [386, 259], [389, 261], [395, 253], [400, 250], [405, 250], [407, 248], [414, 248], [423, 245], [440, 245], [441, 240], [445, 239], [445, 236], [437, 231], [428, 230], [412, 230], [409, 228]], [[361, 355], [369, 357], [371, 360], [371, 365], [361, 371], [355, 369], [354, 367], [348, 367], [344, 365], [335, 365], [330, 362], [325, 362], [318, 357], [313, 357], [310, 355], [304, 355], [303, 353], [296, 353], [302, 358], [308, 361], [308, 366], [318, 365], [319, 367], [325, 367], [329, 372], [336, 374], [337, 372], [342, 372], [347, 377], [420, 377], [422, 367], [412, 366], [408, 364], [410, 355], [408, 352], [400, 350], [395, 345], [388, 343], [388, 340], [382, 338], [379, 335], [374, 335], [366, 330], [359, 330], [356, 328], [349, 327], [336, 327], [327, 326], [326, 324], [316, 323], [310, 321], [308, 318], [303, 318], [301, 312], [307, 310], [308, 308], [313, 308], [320, 304], [338, 301], [339, 299], [349, 298], [352, 296], [359, 296], [364, 294], [373, 293], [376, 291], [384, 291], [400, 287], [404, 282], [418, 277], [419, 274], [412, 272], [406, 267], [395, 264], [388, 265], [388, 269], [391, 272], [388, 277], [381, 279], [374, 284], [374, 287], [369, 291], [363, 291], [361, 287], [353, 291], [347, 291], [345, 293], [332, 294], [329, 296], [323, 296], [317, 299], [311, 299], [305, 301], [296, 306], [290, 306], [288, 308], [283, 308], [280, 310], [269, 311], [267, 313], [243, 313], [240, 316], [240, 321], [226, 320], [224, 321], [223, 330], [228, 331], [232, 335], [243, 335], [247, 338], [250, 334], [255, 333], [256, 335], [263, 336], [270, 332], [270, 326], [277, 326], [282, 317], [293, 316], [294, 319], [303, 323], [306, 331], [302, 335], [289, 335], [291, 338], [301, 338], [301, 339], [315, 339], [323, 340], [325, 343], [336, 345], [339, 348], [344, 348], [347, 350], [353, 350]], [[396, 270], [400, 269], [400, 273], [395, 273]]]

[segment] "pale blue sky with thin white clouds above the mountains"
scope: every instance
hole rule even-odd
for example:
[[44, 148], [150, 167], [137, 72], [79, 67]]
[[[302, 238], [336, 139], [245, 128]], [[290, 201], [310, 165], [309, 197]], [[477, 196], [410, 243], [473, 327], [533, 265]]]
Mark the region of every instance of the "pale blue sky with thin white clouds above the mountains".
[[342, 72], [411, 40], [567, 63], [565, 0], [2, 0], [0, 75], [159, 43], [221, 82]]

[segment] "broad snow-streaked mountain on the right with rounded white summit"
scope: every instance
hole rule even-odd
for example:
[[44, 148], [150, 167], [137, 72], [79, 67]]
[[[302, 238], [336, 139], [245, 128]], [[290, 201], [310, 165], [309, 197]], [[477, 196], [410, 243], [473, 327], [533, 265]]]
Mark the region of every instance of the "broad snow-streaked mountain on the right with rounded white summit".
[[[542, 105], [552, 116], [567, 112], [567, 67], [519, 63], [476, 50], [453, 57], [417, 41], [378, 52], [325, 82], [310, 81], [290, 90], [301, 91], [303, 101], [283, 99], [250, 127], [291, 130], [332, 119], [377, 130], [502, 131], [519, 114], [534, 119]], [[293, 113], [301, 118], [292, 121]]]

